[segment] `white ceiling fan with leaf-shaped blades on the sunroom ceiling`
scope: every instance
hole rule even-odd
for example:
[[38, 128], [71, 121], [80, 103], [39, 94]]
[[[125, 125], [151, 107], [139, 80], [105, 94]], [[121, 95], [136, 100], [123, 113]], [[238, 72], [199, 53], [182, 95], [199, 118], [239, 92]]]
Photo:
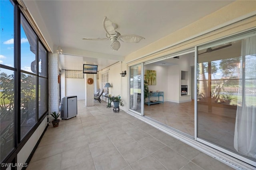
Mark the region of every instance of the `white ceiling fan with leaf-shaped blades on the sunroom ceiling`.
[[128, 42], [128, 43], [138, 43], [140, 40], [145, 39], [144, 37], [141, 37], [139, 35], [134, 34], [125, 34], [121, 35], [119, 32], [116, 31], [117, 24], [110, 21], [106, 16], [103, 19], [103, 28], [106, 31], [106, 37], [107, 38], [89, 38], [85, 37], [83, 39], [85, 40], [110, 40], [111, 44], [110, 47], [114, 51], [118, 50], [120, 48], [120, 41], [122, 42]]

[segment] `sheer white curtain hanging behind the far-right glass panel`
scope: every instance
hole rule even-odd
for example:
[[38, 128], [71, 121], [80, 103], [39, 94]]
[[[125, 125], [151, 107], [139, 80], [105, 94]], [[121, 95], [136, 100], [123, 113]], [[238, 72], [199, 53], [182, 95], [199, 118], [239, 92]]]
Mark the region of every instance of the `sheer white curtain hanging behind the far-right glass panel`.
[[[234, 148], [256, 158], [256, 36], [242, 40]], [[242, 96], [242, 97], [241, 97]]]

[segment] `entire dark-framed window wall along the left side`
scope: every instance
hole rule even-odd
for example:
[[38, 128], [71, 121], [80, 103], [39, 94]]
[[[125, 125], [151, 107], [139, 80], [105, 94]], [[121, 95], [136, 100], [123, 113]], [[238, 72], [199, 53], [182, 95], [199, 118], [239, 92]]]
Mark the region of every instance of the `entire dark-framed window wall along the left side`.
[[48, 111], [48, 52], [17, 2], [0, 3], [0, 161], [13, 163]]

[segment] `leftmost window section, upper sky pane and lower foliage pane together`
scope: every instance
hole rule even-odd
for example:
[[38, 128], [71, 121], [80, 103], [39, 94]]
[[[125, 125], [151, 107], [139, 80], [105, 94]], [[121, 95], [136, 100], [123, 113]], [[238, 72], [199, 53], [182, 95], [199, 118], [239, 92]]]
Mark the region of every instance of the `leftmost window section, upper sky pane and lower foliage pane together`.
[[14, 6], [0, 1], [0, 161], [14, 149]]

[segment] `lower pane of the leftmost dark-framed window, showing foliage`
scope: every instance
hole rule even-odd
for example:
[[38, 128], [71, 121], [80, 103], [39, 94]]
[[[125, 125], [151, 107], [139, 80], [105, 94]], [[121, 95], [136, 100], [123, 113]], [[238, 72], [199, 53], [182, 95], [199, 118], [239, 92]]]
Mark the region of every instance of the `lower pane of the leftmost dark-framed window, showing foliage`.
[[2, 160], [14, 149], [14, 72], [0, 68], [0, 152]]

